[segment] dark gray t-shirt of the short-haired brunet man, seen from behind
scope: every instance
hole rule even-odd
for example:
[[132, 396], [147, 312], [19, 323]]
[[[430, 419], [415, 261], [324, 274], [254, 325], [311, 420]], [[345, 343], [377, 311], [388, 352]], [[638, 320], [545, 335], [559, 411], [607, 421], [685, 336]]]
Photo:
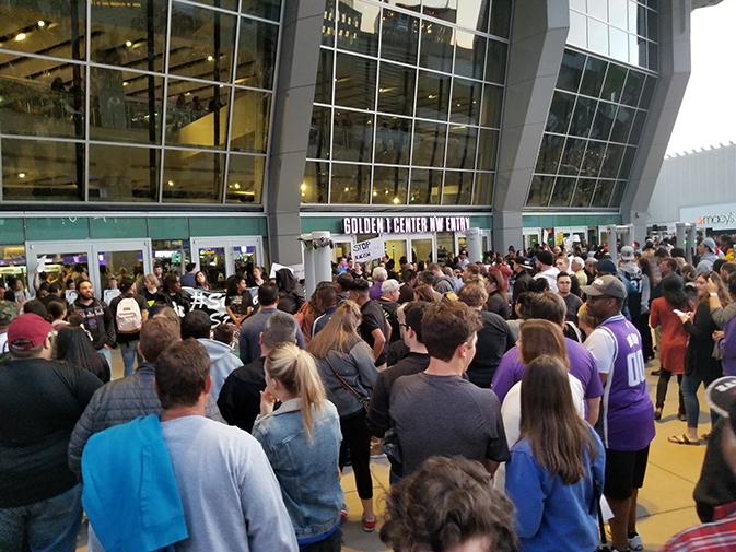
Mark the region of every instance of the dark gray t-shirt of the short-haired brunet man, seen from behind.
[[431, 456], [463, 456], [487, 466], [511, 456], [501, 403], [491, 389], [460, 376], [404, 376], [392, 389], [388, 409], [401, 447], [404, 475]]

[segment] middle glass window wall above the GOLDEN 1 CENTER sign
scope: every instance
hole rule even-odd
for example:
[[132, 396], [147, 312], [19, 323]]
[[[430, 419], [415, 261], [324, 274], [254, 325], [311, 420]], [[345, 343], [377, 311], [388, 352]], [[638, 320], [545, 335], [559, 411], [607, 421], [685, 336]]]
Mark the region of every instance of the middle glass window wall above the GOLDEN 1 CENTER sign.
[[490, 207], [511, 0], [328, 0], [302, 203]]

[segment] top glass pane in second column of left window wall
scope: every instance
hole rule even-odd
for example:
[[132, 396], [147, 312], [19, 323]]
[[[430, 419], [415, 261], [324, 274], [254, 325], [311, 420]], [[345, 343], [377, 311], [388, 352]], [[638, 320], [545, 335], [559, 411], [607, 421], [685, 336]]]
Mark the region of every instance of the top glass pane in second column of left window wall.
[[92, 2], [90, 58], [97, 63], [164, 70], [166, 0]]

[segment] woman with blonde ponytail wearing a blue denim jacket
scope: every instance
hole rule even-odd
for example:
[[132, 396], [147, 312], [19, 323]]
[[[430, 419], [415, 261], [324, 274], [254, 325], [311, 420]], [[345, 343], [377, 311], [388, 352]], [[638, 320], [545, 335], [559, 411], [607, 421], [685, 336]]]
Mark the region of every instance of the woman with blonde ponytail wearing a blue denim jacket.
[[[337, 409], [326, 400], [314, 359], [293, 343], [268, 353], [264, 374], [266, 390], [253, 436], [279, 480], [300, 550], [338, 552], [343, 495]], [[281, 408], [273, 411], [277, 400]]]

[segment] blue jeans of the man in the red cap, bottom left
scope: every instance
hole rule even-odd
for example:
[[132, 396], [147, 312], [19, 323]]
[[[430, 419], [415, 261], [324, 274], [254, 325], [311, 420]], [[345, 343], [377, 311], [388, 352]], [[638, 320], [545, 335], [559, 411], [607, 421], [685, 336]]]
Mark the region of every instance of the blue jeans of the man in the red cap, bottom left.
[[23, 532], [34, 552], [74, 552], [82, 525], [82, 485], [45, 501], [0, 509], [0, 550], [20, 552]]

